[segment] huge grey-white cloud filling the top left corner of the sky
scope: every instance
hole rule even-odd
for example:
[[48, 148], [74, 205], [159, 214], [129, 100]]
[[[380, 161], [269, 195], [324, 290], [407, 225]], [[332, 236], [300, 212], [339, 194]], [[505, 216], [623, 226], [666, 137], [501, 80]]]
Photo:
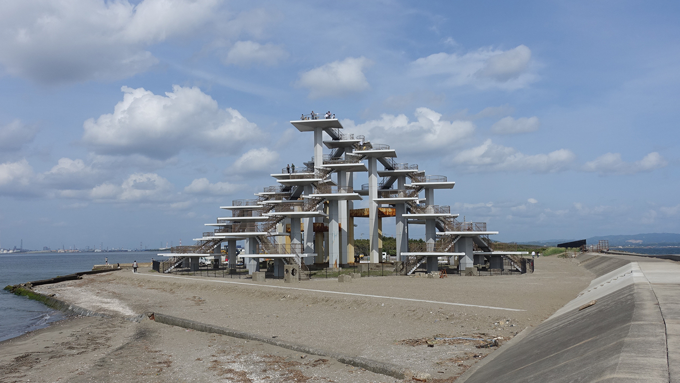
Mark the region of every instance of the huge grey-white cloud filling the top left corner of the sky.
[[148, 47], [214, 20], [220, 0], [135, 3], [3, 1], [0, 63], [14, 76], [47, 84], [133, 76], [158, 63]]

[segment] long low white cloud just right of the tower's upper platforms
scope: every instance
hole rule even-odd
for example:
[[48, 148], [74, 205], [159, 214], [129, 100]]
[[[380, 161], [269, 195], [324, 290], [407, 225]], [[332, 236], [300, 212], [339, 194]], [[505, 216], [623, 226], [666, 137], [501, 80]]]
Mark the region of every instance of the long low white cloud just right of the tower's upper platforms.
[[575, 154], [567, 149], [528, 155], [487, 139], [480, 146], [456, 154], [451, 163], [471, 172], [526, 170], [533, 173], [554, 173], [568, 169], [575, 158]]

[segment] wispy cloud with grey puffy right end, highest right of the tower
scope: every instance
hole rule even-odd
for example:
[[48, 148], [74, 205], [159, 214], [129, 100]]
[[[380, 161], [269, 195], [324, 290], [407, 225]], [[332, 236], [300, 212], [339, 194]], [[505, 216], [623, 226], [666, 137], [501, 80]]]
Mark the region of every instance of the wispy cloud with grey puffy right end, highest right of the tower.
[[530, 71], [531, 50], [524, 45], [510, 50], [480, 48], [466, 54], [444, 52], [413, 61], [415, 76], [447, 76], [449, 86], [474, 85], [507, 90], [524, 88], [537, 77]]

